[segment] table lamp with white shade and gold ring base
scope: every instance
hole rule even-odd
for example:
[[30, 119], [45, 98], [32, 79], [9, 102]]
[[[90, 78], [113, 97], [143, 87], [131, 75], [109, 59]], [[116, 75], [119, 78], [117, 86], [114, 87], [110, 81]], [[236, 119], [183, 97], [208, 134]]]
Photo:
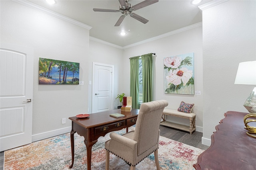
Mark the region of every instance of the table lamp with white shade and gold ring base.
[[[256, 61], [247, 61], [239, 63], [235, 84], [251, 84], [256, 85]], [[250, 126], [249, 123], [256, 122], [256, 87], [244, 102], [244, 107], [249, 111], [249, 114], [244, 116], [246, 133], [251, 137], [256, 138], [256, 127]], [[254, 119], [248, 119], [252, 117]]]

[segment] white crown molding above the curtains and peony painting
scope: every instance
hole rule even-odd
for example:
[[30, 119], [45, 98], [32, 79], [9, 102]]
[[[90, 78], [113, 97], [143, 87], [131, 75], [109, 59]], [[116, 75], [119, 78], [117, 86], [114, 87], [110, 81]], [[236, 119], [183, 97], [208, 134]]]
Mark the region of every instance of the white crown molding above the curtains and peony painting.
[[163, 37], [168, 37], [170, 35], [174, 35], [176, 33], [180, 33], [180, 32], [183, 32], [183, 31], [187, 31], [189, 29], [193, 29], [193, 28], [196, 28], [196, 27], [200, 27], [202, 26], [202, 22], [198, 22], [198, 23], [195, 23], [195, 24], [192, 24], [192, 25], [189, 25], [189, 26], [186, 26], [186, 27], [183, 27], [183, 28], [180, 28], [180, 29], [176, 29], [174, 31], [170, 31], [168, 33], [164, 33], [162, 35], [158, 35], [156, 37], [152, 37], [152, 38], [149, 38], [149, 39], [146, 39], [146, 40], [143, 40], [143, 41], [139, 41], [137, 43], [134, 43], [134, 44], [130, 44], [130, 45], [126, 45], [123, 47], [123, 49], [127, 49], [127, 48], [130, 48], [130, 47], [134, 47], [136, 45], [140, 45], [140, 44], [144, 44], [144, 43], [148, 43], [150, 41], [154, 41], [156, 39], [160, 39], [160, 38], [163, 38]]

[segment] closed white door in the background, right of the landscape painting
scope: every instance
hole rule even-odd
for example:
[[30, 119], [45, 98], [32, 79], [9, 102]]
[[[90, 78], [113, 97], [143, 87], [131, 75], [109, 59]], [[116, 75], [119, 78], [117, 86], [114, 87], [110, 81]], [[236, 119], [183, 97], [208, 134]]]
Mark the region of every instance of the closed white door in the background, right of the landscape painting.
[[93, 63], [92, 113], [112, 110], [114, 66]]

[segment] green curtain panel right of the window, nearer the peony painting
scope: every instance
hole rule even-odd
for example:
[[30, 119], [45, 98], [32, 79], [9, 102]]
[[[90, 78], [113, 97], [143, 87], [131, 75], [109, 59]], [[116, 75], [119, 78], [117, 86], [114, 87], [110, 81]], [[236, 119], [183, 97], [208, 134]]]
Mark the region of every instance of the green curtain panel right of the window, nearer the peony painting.
[[151, 102], [152, 99], [152, 53], [142, 55], [142, 102]]

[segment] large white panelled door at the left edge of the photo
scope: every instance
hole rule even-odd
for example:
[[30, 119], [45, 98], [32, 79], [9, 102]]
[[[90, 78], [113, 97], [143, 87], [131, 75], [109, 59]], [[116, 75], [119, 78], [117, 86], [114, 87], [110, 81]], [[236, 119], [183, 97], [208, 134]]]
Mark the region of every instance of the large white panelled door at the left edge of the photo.
[[32, 141], [33, 50], [0, 46], [0, 150]]

